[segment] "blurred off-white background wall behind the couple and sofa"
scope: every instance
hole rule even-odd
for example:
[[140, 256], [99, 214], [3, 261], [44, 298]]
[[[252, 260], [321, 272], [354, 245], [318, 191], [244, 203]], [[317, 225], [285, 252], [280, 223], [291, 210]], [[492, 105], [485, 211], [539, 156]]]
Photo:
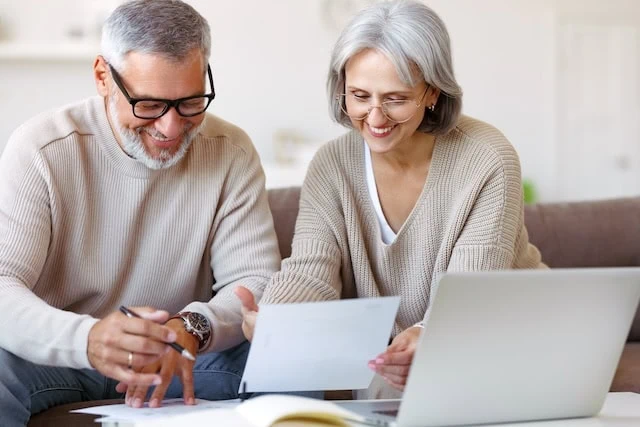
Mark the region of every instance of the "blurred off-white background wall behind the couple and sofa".
[[[252, 137], [269, 186], [302, 182], [344, 129], [325, 76], [374, 0], [191, 0], [212, 28], [210, 112]], [[27, 118], [95, 94], [102, 19], [120, 0], [0, 0], [0, 151]], [[498, 127], [538, 200], [640, 195], [640, 2], [425, 0], [448, 26], [464, 112]]]

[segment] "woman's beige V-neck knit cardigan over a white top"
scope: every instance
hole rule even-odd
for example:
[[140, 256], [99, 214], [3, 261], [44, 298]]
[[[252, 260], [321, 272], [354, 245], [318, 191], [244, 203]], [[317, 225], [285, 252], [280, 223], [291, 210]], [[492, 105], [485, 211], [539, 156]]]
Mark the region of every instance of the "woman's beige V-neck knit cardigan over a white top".
[[518, 156], [492, 126], [463, 117], [437, 138], [422, 194], [390, 245], [380, 236], [364, 159], [355, 131], [316, 154], [291, 257], [262, 304], [400, 295], [395, 336], [424, 318], [446, 271], [544, 267], [524, 226]]

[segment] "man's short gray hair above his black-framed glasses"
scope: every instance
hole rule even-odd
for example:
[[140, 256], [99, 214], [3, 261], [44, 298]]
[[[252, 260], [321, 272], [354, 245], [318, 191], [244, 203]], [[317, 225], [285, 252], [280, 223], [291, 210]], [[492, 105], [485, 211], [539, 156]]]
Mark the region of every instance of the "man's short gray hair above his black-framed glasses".
[[207, 20], [180, 0], [133, 0], [118, 6], [102, 27], [102, 56], [123, 71], [129, 52], [183, 60], [193, 49], [204, 58], [211, 54]]

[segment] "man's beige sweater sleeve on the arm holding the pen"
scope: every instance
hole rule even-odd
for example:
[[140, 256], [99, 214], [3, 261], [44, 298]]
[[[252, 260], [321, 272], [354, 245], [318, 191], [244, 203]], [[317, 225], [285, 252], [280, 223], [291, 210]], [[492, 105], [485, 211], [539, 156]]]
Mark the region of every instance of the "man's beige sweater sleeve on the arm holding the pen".
[[86, 342], [97, 322], [54, 308], [35, 287], [51, 239], [49, 171], [20, 128], [0, 158], [0, 347], [39, 364], [89, 367]]

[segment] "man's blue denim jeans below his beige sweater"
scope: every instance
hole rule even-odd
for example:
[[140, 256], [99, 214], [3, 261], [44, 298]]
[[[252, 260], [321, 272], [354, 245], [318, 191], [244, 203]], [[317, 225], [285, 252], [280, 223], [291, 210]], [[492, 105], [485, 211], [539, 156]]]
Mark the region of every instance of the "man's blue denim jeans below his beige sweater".
[[[248, 354], [245, 341], [220, 353], [199, 355], [193, 369], [196, 398], [237, 398]], [[0, 349], [0, 426], [22, 427], [31, 415], [65, 403], [124, 398], [115, 390], [117, 383], [95, 370], [36, 365]], [[182, 397], [177, 377], [165, 397]]]

